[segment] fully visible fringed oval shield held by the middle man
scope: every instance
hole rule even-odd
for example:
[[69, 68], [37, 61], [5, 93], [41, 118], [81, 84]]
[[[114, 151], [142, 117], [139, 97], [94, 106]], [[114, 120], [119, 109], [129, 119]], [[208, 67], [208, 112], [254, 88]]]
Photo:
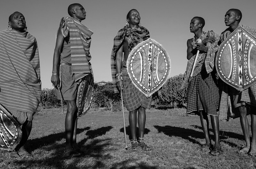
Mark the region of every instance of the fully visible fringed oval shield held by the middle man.
[[126, 65], [132, 83], [146, 97], [164, 85], [171, 71], [168, 53], [161, 44], [150, 38], [132, 49]]

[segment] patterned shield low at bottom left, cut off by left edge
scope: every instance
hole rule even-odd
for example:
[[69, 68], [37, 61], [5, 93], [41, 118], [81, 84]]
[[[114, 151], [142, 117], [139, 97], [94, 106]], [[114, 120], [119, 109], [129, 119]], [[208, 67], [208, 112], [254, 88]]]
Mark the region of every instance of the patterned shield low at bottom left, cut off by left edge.
[[22, 131], [19, 122], [0, 104], [0, 149], [14, 151], [20, 143]]

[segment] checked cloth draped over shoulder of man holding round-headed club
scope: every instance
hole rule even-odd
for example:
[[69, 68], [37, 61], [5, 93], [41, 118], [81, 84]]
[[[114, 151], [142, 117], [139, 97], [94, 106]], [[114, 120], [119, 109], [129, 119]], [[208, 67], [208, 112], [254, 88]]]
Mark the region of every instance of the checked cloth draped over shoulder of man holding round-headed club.
[[[196, 67], [193, 72], [193, 77], [195, 77], [196, 75], [198, 75], [201, 72], [203, 63], [205, 65], [205, 69], [206, 69], [207, 73], [212, 72], [212, 70], [214, 68], [214, 60], [215, 60], [216, 52], [218, 51], [218, 48], [219, 48], [218, 41], [219, 41], [220, 37], [217, 33], [214, 33], [213, 31], [208, 31], [207, 33], [204, 34], [204, 36], [202, 37], [202, 40], [204, 40], [210, 36], [214, 36], [216, 41], [214, 43], [207, 42], [206, 47], [208, 48], [208, 51], [207, 51], [206, 55], [205, 55], [205, 53], [202, 53], [202, 52], [199, 53], [198, 58], [196, 60]], [[188, 85], [189, 77], [190, 77], [190, 74], [191, 74], [191, 71], [193, 68], [195, 58], [196, 58], [196, 55], [191, 57], [191, 59], [188, 61], [188, 65], [187, 65], [187, 69], [186, 69], [186, 77], [185, 77], [183, 84], [180, 87], [180, 90], [185, 89], [186, 86]]]

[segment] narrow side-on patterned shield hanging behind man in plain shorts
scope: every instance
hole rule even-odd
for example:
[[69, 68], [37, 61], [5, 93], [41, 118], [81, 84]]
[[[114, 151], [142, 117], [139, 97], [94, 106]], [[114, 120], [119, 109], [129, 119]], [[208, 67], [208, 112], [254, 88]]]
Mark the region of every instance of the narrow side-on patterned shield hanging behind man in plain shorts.
[[91, 65], [90, 71], [91, 73], [83, 77], [82, 82], [78, 86], [76, 98], [77, 117], [86, 114], [92, 106], [94, 80]]

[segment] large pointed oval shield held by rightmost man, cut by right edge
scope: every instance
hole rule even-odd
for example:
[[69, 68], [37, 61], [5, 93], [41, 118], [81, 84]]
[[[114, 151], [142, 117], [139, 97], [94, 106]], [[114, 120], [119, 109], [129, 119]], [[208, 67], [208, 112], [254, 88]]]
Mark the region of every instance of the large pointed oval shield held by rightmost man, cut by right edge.
[[256, 79], [256, 38], [238, 26], [220, 44], [216, 57], [219, 77], [228, 85], [243, 91]]

